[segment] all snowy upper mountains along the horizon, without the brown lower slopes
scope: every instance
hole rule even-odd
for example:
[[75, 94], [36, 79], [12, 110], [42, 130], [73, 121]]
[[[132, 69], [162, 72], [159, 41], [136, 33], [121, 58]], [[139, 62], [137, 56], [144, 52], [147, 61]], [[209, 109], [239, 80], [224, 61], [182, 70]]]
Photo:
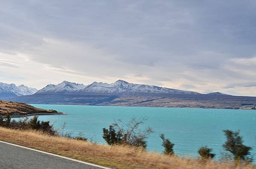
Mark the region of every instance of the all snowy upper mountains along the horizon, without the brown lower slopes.
[[[25, 85], [16, 86], [15, 84], [6, 84], [0, 82], [0, 96], [3, 94], [9, 96], [26, 96], [32, 94], [192, 94], [201, 93], [158, 87], [153, 85], [141, 85], [117, 80], [111, 84], [102, 82], [93, 82], [90, 85], [77, 84], [63, 81], [58, 85], [47, 85], [41, 90], [27, 87]], [[209, 95], [226, 95], [220, 92], [208, 93]]]

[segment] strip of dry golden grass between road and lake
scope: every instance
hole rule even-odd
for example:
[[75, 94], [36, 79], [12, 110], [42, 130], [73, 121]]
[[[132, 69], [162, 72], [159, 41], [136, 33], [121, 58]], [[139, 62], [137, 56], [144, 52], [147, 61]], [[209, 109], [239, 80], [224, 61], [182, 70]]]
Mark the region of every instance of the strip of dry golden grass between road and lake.
[[116, 169], [255, 169], [251, 165], [235, 166], [216, 161], [203, 163], [200, 160], [170, 157], [128, 146], [92, 144], [35, 131], [2, 127], [0, 140]]

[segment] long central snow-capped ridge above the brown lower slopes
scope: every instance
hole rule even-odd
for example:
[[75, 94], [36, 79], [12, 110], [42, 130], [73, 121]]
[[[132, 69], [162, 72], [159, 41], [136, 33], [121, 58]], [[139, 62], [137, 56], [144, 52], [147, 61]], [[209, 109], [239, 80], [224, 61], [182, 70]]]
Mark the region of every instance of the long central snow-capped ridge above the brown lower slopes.
[[118, 80], [114, 83], [93, 82], [90, 85], [76, 84], [64, 81], [58, 85], [47, 85], [37, 93], [102, 93], [102, 94], [133, 94], [133, 93], [162, 93], [162, 94], [200, 94], [191, 91], [169, 89], [152, 85], [140, 85]]

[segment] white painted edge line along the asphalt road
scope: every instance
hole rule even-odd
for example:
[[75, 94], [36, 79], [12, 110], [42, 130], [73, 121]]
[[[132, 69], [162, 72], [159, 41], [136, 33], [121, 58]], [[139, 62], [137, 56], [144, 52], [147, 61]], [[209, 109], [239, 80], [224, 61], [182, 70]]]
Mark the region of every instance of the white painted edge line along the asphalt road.
[[64, 158], [64, 159], [67, 159], [67, 160], [76, 161], [78, 163], [87, 164], [89, 166], [99, 167], [101, 169], [111, 169], [111, 168], [104, 167], [104, 166], [99, 166], [99, 165], [96, 165], [96, 164], [93, 164], [93, 163], [87, 163], [87, 162], [84, 162], [84, 161], [75, 160], [73, 158], [68, 158], [68, 157], [64, 157], [64, 156], [61, 156], [61, 155], [52, 154], [52, 153], [49, 153], [49, 152], [43, 152], [43, 151], [37, 150], [37, 149], [31, 149], [31, 148], [28, 148], [28, 147], [25, 147], [25, 146], [20, 146], [20, 145], [17, 145], [17, 144], [7, 143], [7, 142], [4, 142], [4, 141], [0, 141], [0, 143], [9, 144], [9, 145], [12, 145], [12, 146], [17, 146], [17, 147], [20, 147], [20, 148], [23, 148], [23, 149], [30, 149], [30, 150], [35, 151], [35, 152], [41, 152], [41, 153], [44, 153], [44, 154], [53, 155], [53, 156], [56, 156], [56, 157], [59, 157], [59, 158]]

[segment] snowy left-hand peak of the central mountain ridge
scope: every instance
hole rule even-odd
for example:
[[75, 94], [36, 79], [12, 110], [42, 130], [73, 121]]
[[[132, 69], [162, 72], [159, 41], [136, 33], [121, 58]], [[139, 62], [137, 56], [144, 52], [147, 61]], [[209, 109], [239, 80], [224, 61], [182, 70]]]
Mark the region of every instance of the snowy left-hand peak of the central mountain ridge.
[[67, 81], [63, 81], [58, 85], [47, 85], [46, 87], [38, 90], [38, 93], [72, 93], [77, 90], [82, 90], [86, 86], [83, 84], [71, 83]]

